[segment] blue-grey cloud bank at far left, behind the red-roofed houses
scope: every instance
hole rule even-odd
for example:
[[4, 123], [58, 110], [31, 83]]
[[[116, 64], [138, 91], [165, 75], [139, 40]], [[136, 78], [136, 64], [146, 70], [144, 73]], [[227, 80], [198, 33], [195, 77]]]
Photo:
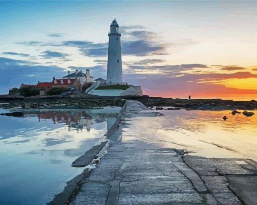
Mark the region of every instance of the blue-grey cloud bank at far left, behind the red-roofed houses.
[[37, 81], [49, 82], [52, 77], [62, 77], [65, 70], [57, 66], [34, 65], [29, 61], [0, 57], [0, 93], [8, 93], [22, 83], [36, 84]]

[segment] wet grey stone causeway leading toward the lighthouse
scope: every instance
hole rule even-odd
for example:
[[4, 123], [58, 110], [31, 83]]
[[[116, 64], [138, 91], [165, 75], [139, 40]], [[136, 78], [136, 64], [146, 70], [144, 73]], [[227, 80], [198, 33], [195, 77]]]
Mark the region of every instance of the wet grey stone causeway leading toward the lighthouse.
[[[125, 111], [144, 109], [129, 101]], [[122, 141], [129, 137], [123, 131], [129, 120], [121, 121], [69, 204], [257, 204], [256, 162], [187, 156], [140, 140]]]

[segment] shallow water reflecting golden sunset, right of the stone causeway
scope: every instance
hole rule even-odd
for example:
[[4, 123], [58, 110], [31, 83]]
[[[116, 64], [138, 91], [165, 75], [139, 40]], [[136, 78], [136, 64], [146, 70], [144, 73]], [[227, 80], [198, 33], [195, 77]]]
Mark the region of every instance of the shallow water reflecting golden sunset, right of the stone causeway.
[[[158, 110], [164, 116], [134, 117], [122, 140], [143, 140], [163, 148], [184, 149], [208, 158], [257, 161], [257, 111], [251, 117], [230, 110]], [[142, 115], [142, 114], [141, 114]], [[228, 119], [224, 121], [223, 116]], [[137, 130], [135, 132], [135, 130]]]

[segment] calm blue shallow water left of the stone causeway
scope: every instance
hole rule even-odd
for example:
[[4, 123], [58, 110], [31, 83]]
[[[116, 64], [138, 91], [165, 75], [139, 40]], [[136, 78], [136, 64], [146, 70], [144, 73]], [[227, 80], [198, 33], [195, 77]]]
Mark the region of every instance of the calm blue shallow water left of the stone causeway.
[[[84, 168], [71, 164], [104, 139], [120, 108], [30, 110], [0, 116], [0, 204], [45, 204]], [[0, 110], [0, 113], [9, 110]]]

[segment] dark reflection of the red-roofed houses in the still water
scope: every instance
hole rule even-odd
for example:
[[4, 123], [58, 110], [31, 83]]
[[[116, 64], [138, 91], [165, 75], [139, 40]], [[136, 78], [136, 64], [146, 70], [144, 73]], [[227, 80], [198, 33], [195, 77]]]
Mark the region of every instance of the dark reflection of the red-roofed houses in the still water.
[[36, 114], [38, 121], [51, 119], [53, 124], [65, 123], [68, 125], [68, 131], [82, 131], [86, 129], [90, 131], [91, 125], [94, 123], [107, 122], [107, 129], [110, 128], [116, 120], [118, 113], [97, 113], [90, 115], [85, 111], [40, 111]]

